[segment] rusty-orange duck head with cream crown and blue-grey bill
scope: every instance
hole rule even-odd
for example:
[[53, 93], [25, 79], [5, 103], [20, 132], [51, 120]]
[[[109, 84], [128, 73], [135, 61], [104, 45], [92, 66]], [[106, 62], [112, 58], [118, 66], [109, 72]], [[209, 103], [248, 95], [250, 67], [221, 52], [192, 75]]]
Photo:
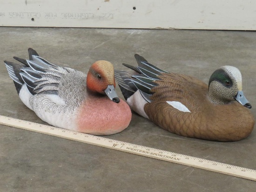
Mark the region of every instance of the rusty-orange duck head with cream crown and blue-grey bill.
[[87, 89], [92, 93], [107, 95], [115, 103], [119, 103], [115, 92], [115, 77], [113, 65], [105, 60], [96, 61], [87, 75]]

